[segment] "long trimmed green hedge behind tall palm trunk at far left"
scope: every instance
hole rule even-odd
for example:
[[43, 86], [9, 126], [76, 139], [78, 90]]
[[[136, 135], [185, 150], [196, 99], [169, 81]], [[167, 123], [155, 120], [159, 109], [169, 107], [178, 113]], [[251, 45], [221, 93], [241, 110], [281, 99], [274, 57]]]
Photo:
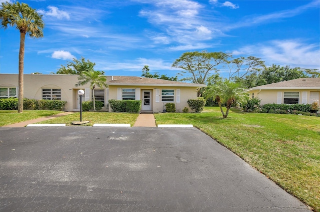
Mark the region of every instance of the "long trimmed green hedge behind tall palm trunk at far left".
[[[61, 100], [35, 100], [35, 99], [23, 99], [23, 109], [34, 110], [63, 110], [66, 101]], [[18, 98], [0, 99], [0, 110], [17, 110]]]

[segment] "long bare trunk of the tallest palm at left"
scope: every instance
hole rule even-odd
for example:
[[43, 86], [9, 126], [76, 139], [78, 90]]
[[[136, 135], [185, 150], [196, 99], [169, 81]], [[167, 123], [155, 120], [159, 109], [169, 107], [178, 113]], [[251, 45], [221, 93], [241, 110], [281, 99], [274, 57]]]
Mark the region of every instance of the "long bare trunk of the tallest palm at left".
[[19, 74], [18, 74], [18, 113], [23, 111], [23, 60], [24, 60], [24, 39], [25, 33], [20, 32], [19, 48]]

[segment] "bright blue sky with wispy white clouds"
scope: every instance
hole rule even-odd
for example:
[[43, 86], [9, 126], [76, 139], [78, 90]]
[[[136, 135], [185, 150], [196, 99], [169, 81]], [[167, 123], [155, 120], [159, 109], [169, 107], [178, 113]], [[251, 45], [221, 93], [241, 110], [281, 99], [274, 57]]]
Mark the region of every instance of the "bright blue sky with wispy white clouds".
[[[43, 38], [25, 40], [24, 73], [56, 72], [83, 56], [105, 75], [140, 76], [148, 65], [174, 76], [175, 59], [201, 50], [320, 68], [319, 0], [19, 2], [37, 9], [45, 23]], [[18, 73], [18, 49], [18, 30], [0, 28], [0, 73]]]

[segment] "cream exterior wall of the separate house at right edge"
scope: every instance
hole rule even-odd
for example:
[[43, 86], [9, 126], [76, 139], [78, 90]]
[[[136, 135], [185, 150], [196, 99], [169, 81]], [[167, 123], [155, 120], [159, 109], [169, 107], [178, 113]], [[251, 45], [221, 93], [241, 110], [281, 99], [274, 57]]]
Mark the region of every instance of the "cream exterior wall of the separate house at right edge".
[[302, 92], [306, 93], [306, 103], [311, 104], [314, 100], [319, 101], [319, 99], [311, 99], [310, 92], [318, 93], [320, 97], [320, 91], [317, 89], [308, 89], [308, 90], [297, 90], [297, 89], [285, 89], [285, 90], [252, 90], [249, 91], [250, 97], [254, 93], [254, 97], [258, 97], [261, 100], [261, 105], [268, 103], [277, 103], [277, 93], [281, 92], [281, 104], [283, 104], [283, 93], [284, 92], [299, 92], [299, 104], [302, 104]]

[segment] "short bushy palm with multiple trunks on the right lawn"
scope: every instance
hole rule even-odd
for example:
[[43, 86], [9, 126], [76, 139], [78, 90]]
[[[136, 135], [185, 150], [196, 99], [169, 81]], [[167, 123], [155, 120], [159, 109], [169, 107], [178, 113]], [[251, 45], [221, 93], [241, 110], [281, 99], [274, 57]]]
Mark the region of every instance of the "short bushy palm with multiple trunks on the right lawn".
[[[215, 97], [215, 100], [220, 107], [223, 118], [226, 118], [229, 114], [232, 103], [236, 101], [242, 102], [243, 100], [245, 100], [247, 93], [239, 83], [224, 80], [221, 82], [217, 82], [214, 85], [208, 86], [204, 96], [205, 98]], [[226, 103], [225, 113], [223, 112], [221, 103]]]

